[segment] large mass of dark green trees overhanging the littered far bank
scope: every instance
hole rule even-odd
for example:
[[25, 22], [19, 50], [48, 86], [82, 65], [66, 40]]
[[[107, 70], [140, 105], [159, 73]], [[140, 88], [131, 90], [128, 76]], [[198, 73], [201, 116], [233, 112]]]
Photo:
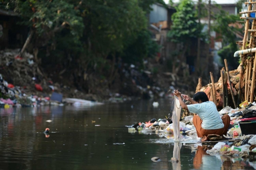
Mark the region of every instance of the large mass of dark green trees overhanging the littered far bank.
[[155, 2], [165, 4], [163, 0], [0, 0], [0, 8], [15, 10], [21, 24], [35, 30], [31, 44], [39, 48], [43, 65], [107, 77], [119, 61], [142, 65], [143, 59], [155, 56], [159, 47], [147, 30], [146, 17]]

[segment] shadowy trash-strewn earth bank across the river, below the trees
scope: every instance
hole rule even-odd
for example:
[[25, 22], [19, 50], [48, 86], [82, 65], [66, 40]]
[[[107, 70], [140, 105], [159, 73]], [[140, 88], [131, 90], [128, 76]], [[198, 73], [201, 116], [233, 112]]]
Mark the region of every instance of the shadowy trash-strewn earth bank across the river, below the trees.
[[[19, 49], [0, 51], [0, 98], [10, 99], [14, 105], [46, 105], [56, 104], [50, 102], [50, 99], [52, 93], [58, 93], [63, 99], [117, 103], [172, 97], [168, 92], [173, 91], [174, 86], [179, 86], [184, 93], [190, 93], [192, 89], [178, 81], [179, 77], [163, 72], [161, 66], [154, 64], [154, 61], [148, 61], [144, 70], [134, 65], [123, 66], [111, 85], [109, 80], [102, 79], [96, 73], [84, 74], [84, 82], [76, 84], [73, 82], [75, 77], [71, 77], [68, 70], [42, 68], [38, 62], [37, 56], [30, 53], [25, 52], [20, 57]], [[153, 68], [157, 68], [158, 72], [146, 70]], [[87, 89], [86, 86], [90, 88]], [[1, 104], [8, 104], [4, 102]]]

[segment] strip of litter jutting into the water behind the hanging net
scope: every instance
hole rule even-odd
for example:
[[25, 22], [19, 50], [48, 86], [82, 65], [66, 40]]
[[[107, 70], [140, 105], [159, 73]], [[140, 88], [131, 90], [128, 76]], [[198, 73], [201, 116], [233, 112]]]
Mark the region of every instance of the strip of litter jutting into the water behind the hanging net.
[[[128, 127], [129, 133], [135, 133], [138, 131], [139, 133], [152, 133], [155, 132], [159, 134], [160, 137], [163, 137], [164, 134], [173, 134], [174, 127], [173, 121], [171, 118], [172, 114], [170, 113], [168, 118], [165, 119], [158, 119], [156, 120], [151, 119], [148, 122], [139, 122], [135, 125], [126, 126]], [[195, 127], [192, 125], [192, 116], [185, 117], [182, 121], [180, 121], [180, 132], [182, 135], [191, 136], [192, 138], [197, 138]]]

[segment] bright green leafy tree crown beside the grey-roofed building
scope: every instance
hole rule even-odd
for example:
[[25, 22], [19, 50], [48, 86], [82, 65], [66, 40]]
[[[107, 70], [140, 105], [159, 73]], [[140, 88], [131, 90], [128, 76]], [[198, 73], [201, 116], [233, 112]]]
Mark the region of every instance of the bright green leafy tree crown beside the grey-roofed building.
[[181, 0], [177, 12], [172, 16], [173, 25], [168, 36], [172, 42], [188, 42], [193, 37], [201, 37], [202, 25], [196, 20], [196, 10], [192, 0]]

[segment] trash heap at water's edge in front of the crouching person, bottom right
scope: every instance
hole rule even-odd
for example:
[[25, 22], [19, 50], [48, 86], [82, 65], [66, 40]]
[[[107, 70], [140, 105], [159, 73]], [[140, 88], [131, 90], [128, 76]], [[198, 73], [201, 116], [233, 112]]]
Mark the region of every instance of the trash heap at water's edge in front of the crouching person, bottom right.
[[212, 149], [207, 150], [210, 155], [220, 154], [223, 156], [256, 158], [256, 135], [244, 135], [241, 141], [219, 142]]

